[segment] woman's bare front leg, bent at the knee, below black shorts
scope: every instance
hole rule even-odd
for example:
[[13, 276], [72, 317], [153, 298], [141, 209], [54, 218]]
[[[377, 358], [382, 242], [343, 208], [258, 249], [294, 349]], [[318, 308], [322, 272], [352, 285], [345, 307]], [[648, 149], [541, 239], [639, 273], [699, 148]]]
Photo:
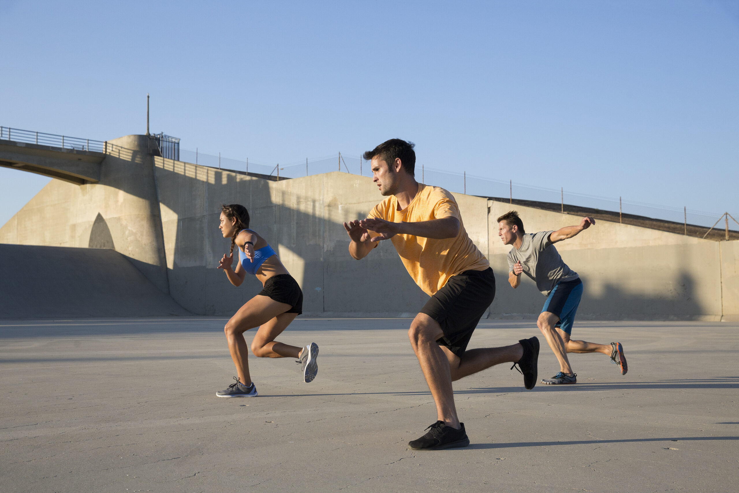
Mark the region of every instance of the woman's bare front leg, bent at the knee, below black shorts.
[[[228, 350], [231, 352], [231, 359], [234, 360], [234, 365], [236, 366], [236, 374], [239, 376], [242, 384], [251, 384], [248, 362], [249, 348], [246, 345], [244, 333], [254, 327], [267, 324], [287, 310], [290, 310], [290, 305], [287, 305], [287, 303], [279, 303], [270, 299], [268, 296], [257, 295], [239, 308], [239, 311], [225, 324], [223, 330], [226, 335], [226, 341], [228, 341]], [[290, 319], [290, 322], [292, 322], [292, 319]], [[282, 327], [282, 330], [285, 330], [285, 327], [287, 327], [287, 324]], [[275, 336], [277, 335], [279, 333], [275, 334]], [[286, 346], [287, 344], [283, 345]], [[299, 348], [297, 349], [299, 350]], [[286, 356], [291, 356], [291, 354]]]

